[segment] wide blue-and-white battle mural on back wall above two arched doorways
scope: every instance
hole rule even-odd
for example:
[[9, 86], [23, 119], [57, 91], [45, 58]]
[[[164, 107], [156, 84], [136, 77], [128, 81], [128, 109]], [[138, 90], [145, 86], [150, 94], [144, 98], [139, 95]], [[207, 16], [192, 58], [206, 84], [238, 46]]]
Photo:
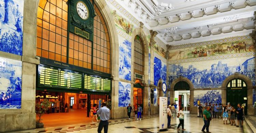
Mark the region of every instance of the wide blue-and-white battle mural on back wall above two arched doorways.
[[169, 85], [183, 76], [191, 80], [194, 88], [221, 88], [226, 77], [238, 72], [252, 80], [255, 85], [255, 57], [169, 64]]

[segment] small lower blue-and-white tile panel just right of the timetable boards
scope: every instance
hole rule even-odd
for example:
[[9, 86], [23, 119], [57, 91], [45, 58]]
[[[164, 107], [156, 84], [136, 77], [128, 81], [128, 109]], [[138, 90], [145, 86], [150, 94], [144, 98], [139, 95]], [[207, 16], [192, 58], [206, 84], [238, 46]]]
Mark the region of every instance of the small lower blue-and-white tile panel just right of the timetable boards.
[[131, 84], [119, 81], [118, 107], [126, 107], [129, 103], [131, 103]]

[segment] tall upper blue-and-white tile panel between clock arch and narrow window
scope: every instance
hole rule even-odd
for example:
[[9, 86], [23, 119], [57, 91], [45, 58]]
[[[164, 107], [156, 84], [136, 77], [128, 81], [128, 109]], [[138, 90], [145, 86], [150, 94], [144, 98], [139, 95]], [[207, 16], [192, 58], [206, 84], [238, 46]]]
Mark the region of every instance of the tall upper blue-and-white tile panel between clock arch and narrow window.
[[131, 42], [119, 44], [119, 78], [131, 80]]

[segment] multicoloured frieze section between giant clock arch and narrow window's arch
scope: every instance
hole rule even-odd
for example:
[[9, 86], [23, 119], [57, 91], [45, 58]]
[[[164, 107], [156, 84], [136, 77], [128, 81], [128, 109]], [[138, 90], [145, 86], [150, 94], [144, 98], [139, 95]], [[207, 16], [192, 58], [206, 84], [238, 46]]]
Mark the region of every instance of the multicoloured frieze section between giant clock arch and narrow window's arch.
[[112, 11], [112, 15], [115, 20], [115, 25], [120, 29], [126, 32], [127, 34], [131, 35], [133, 31], [133, 24], [130, 24], [128, 20], [123, 18], [122, 16], [119, 16], [119, 14], [116, 13], [116, 10]]

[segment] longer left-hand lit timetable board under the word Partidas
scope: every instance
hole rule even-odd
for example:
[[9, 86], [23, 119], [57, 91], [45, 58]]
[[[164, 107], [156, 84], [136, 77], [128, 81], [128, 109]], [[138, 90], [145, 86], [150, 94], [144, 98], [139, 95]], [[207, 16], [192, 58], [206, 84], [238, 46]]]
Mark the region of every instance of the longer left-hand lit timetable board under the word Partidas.
[[81, 89], [83, 73], [66, 69], [38, 65], [38, 78], [40, 87]]

